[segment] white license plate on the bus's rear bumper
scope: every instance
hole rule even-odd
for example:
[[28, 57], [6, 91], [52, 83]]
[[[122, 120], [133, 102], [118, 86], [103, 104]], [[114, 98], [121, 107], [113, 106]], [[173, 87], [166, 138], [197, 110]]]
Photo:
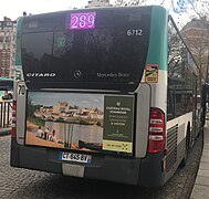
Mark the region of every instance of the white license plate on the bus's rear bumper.
[[60, 160], [66, 160], [66, 161], [75, 161], [75, 163], [85, 163], [91, 164], [92, 156], [84, 155], [84, 154], [74, 154], [74, 153], [60, 153]]

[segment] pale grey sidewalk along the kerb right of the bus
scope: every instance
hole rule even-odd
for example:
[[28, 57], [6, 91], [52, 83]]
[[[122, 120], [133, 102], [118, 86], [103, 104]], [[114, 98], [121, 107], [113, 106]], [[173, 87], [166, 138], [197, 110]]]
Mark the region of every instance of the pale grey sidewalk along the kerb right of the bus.
[[203, 150], [190, 199], [209, 198], [209, 123], [203, 130]]

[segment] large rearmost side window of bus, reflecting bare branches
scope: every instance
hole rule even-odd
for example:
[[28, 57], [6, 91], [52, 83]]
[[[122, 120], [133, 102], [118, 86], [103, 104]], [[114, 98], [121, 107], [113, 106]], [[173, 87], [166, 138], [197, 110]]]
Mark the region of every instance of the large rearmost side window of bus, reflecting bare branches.
[[167, 118], [169, 121], [195, 109], [197, 77], [189, 60], [189, 51], [171, 23], [169, 23], [168, 38]]

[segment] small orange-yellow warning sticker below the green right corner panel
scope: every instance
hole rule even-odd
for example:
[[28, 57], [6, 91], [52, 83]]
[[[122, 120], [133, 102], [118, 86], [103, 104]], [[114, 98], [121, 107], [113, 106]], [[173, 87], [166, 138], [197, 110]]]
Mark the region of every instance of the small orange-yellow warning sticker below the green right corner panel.
[[145, 82], [157, 83], [158, 82], [158, 64], [147, 64], [145, 71]]

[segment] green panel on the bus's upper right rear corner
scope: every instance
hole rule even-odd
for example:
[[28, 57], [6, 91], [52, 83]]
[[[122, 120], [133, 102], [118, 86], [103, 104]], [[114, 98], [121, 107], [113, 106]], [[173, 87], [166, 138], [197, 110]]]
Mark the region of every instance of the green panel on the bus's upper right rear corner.
[[154, 6], [151, 10], [149, 49], [147, 64], [158, 64], [159, 70], [168, 70], [168, 12]]

